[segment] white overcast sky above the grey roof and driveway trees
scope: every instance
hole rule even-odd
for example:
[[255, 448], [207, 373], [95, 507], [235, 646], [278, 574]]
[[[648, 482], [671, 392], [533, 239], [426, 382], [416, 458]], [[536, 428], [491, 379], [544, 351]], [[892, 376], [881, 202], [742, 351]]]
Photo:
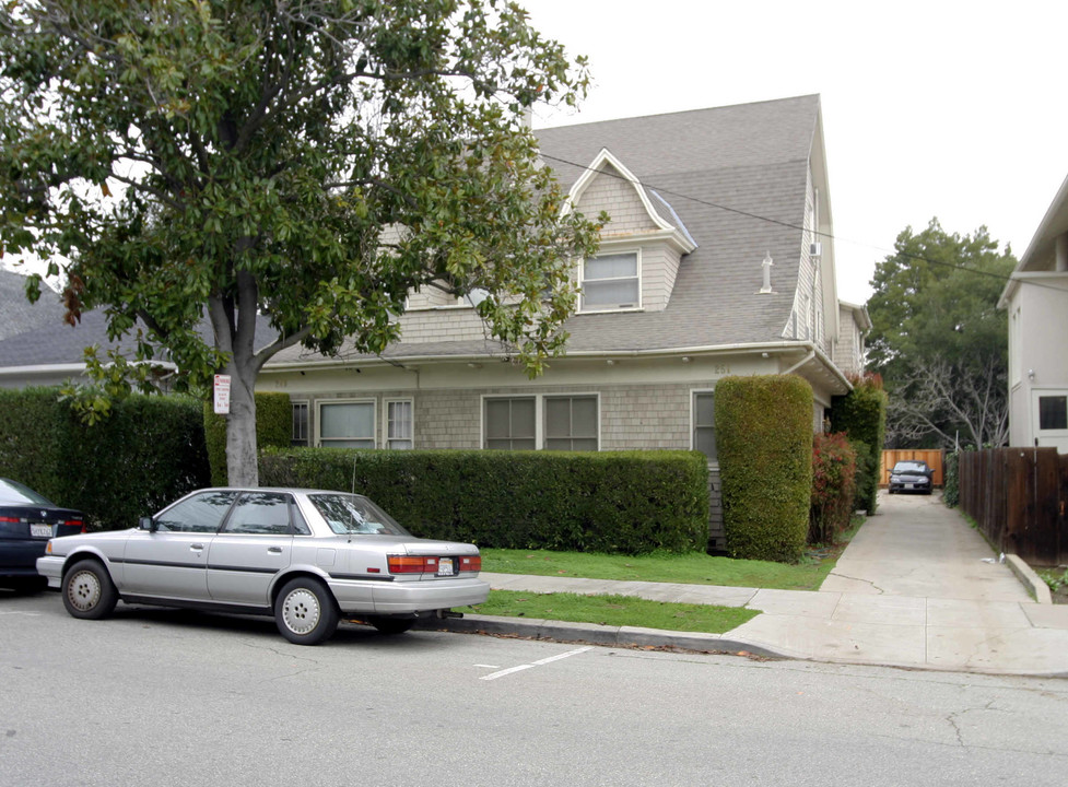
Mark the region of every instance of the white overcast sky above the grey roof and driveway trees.
[[1019, 257], [1068, 175], [1064, 0], [519, 3], [594, 77], [536, 128], [819, 93], [845, 301], [932, 216]]

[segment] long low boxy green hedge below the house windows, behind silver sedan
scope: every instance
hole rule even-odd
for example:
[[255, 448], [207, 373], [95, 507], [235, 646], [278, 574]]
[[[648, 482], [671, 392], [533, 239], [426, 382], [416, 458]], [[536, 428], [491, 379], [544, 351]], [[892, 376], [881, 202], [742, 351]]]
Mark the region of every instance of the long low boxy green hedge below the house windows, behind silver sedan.
[[708, 543], [708, 468], [693, 451], [290, 448], [262, 451], [259, 473], [365, 494], [423, 538], [625, 554]]

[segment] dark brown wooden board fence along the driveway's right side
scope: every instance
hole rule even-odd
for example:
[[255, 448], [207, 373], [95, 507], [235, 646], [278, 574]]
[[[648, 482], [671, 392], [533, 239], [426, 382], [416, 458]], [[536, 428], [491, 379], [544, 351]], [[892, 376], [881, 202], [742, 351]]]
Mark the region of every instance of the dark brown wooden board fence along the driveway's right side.
[[961, 510], [991, 544], [1032, 565], [1068, 563], [1068, 456], [994, 448], [960, 457]]

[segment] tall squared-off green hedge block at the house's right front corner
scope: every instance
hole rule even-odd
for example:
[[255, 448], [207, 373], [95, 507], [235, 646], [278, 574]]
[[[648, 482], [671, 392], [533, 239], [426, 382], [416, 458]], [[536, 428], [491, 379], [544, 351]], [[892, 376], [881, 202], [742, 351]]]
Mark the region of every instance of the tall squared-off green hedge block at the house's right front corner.
[[716, 384], [724, 529], [733, 557], [796, 563], [812, 495], [812, 388], [795, 375]]

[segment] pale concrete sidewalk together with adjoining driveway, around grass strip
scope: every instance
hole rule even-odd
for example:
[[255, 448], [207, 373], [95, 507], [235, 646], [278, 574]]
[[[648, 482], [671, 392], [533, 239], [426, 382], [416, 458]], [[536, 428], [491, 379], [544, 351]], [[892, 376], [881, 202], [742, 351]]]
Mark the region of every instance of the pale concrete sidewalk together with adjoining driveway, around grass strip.
[[1040, 604], [954, 510], [887, 496], [819, 591], [483, 573], [494, 589], [620, 594], [763, 612], [721, 635], [469, 615], [455, 630], [787, 658], [1068, 677], [1068, 606]]

